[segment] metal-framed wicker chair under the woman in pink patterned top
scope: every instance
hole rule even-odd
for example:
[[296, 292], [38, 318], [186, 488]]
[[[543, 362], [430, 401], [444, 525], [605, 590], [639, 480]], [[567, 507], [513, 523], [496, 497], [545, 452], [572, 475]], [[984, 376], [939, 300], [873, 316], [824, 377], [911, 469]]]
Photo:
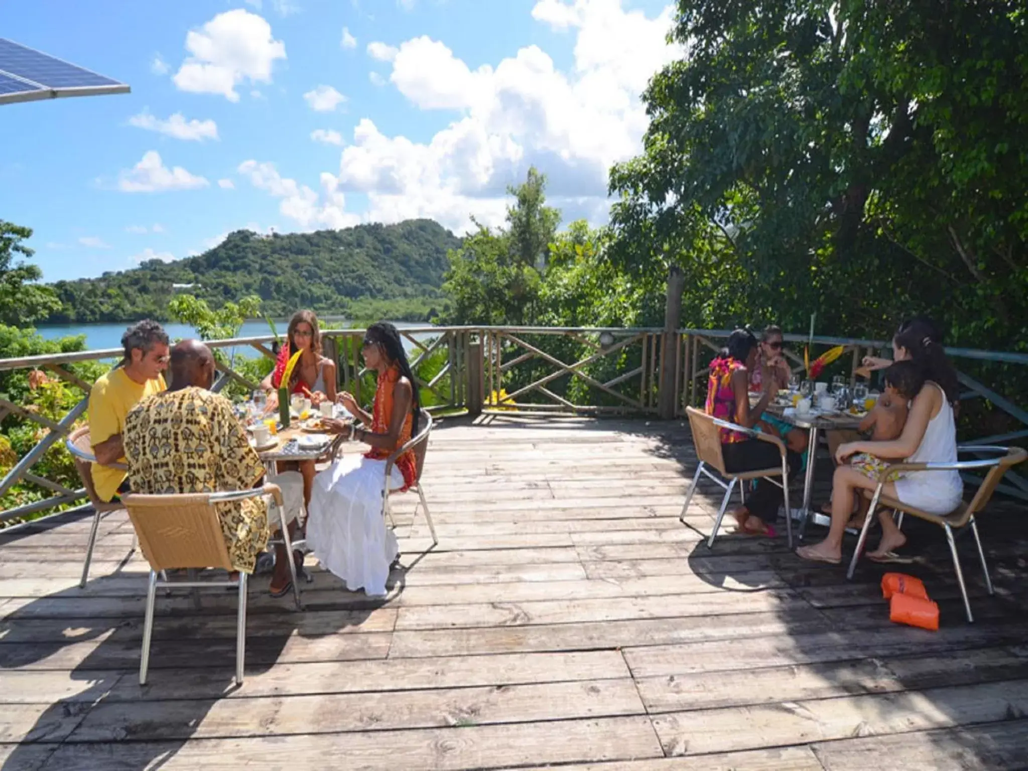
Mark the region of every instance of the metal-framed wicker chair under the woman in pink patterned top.
[[[696, 458], [699, 461], [699, 466], [696, 468], [696, 474], [693, 476], [692, 484], [689, 486], [689, 493], [686, 495], [686, 503], [682, 507], [682, 514], [678, 516], [678, 519], [683, 522], [686, 521], [686, 512], [693, 500], [693, 493], [696, 491], [696, 484], [699, 482], [701, 474], [720, 485], [725, 490], [725, 498], [721, 502], [721, 509], [718, 511], [713, 530], [711, 530], [710, 538], [707, 540], [707, 548], [712, 549], [713, 540], [718, 536], [718, 530], [721, 529], [721, 522], [725, 518], [725, 511], [728, 509], [728, 502], [732, 498], [735, 485], [750, 479], [766, 479], [768, 482], [782, 488], [785, 502], [785, 534], [788, 540], [788, 548], [792, 549], [793, 517], [788, 506], [788, 458], [786, 456], [785, 443], [776, 436], [763, 434], [754, 429], [737, 426], [727, 420], [721, 420], [695, 407], [687, 407], [686, 413], [689, 415], [689, 427], [692, 430], [693, 444], [696, 447]], [[781, 466], [761, 469], [759, 471], [745, 471], [738, 474], [726, 471], [725, 457], [722, 453], [720, 429], [731, 429], [759, 441], [775, 445], [781, 454]], [[711, 474], [707, 470], [708, 467], [713, 468], [720, 476]], [[780, 477], [781, 482], [776, 477]], [[725, 479], [728, 481], [726, 482]], [[741, 490], [742, 487], [740, 485], [740, 492]]]

